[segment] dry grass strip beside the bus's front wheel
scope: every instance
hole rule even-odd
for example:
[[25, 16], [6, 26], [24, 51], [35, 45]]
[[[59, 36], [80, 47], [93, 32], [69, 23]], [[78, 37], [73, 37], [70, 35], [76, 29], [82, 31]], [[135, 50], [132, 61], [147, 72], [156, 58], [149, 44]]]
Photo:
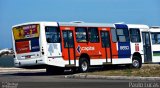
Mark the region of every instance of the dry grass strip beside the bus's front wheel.
[[141, 76], [141, 77], [160, 77], [160, 65], [143, 65], [140, 69], [112, 68], [101, 71], [94, 71], [82, 74], [104, 75], [104, 76]]

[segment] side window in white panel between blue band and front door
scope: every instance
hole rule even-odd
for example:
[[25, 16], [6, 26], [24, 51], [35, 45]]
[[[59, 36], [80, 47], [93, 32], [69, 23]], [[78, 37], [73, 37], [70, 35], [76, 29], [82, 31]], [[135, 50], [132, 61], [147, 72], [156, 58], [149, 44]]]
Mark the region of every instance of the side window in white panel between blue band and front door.
[[141, 42], [139, 29], [130, 29], [131, 42]]

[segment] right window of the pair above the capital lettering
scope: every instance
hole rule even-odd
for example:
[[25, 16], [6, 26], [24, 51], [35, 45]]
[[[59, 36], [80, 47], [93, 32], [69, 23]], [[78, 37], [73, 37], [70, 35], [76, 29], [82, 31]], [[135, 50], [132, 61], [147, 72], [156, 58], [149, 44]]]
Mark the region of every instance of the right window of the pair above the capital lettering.
[[89, 37], [89, 41], [92, 43], [99, 42], [98, 28], [89, 27], [88, 37]]

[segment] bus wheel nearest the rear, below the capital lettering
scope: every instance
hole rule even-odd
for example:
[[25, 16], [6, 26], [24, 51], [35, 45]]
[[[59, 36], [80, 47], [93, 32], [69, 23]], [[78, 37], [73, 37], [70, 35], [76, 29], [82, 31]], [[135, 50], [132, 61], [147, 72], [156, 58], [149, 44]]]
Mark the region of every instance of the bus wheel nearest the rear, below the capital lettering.
[[89, 61], [86, 57], [80, 58], [79, 61], [79, 72], [88, 72], [89, 71]]

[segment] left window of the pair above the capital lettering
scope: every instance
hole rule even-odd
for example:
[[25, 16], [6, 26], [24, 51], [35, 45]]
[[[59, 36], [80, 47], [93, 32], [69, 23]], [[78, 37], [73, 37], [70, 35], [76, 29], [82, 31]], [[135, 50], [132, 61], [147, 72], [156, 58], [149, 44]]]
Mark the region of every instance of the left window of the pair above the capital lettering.
[[77, 42], [87, 42], [87, 28], [85, 27], [76, 28], [76, 40]]

